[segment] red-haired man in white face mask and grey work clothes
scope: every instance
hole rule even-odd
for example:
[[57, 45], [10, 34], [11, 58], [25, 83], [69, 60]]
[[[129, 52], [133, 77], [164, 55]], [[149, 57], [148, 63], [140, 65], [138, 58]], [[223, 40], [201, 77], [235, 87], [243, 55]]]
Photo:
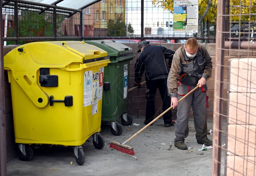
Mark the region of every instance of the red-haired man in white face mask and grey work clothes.
[[[193, 108], [196, 139], [198, 144], [211, 146], [212, 141], [207, 138], [207, 85], [206, 80], [211, 76], [212, 61], [206, 48], [190, 38], [185, 45], [178, 48], [173, 56], [169, 74], [169, 91], [171, 105], [177, 106], [177, 123], [175, 125], [174, 146], [180, 150], [187, 150], [184, 143], [188, 136], [188, 118], [190, 106]], [[179, 81], [179, 82], [178, 82]], [[195, 90], [178, 105], [178, 100], [190, 90]]]

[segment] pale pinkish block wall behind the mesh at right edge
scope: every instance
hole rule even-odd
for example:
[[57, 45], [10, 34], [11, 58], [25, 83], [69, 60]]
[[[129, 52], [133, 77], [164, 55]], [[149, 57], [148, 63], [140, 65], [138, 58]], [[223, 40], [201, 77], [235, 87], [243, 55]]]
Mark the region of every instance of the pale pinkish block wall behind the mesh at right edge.
[[256, 58], [230, 60], [227, 175], [256, 175], [255, 64]]

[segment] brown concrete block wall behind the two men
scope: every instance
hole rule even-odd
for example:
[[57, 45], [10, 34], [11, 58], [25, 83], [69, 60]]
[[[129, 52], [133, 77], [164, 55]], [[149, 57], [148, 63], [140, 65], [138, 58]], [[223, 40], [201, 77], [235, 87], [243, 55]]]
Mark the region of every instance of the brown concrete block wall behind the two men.
[[[133, 49], [133, 53], [135, 54], [135, 58], [130, 62], [130, 76], [129, 76], [129, 89], [133, 86], [134, 82], [134, 66], [136, 63], [136, 59], [138, 58], [140, 53], [137, 53], [136, 50], [138, 49], [138, 43], [123, 43], [126, 46], [129, 46]], [[161, 45], [165, 46], [168, 49], [172, 49], [176, 51], [179, 47], [183, 46], [182, 43], [150, 43], [151, 45]], [[208, 85], [208, 91], [207, 95], [209, 96], [208, 99], [208, 120], [213, 120], [213, 106], [214, 106], [214, 76], [215, 76], [215, 44], [204, 44], [204, 46], [207, 48], [207, 51], [209, 52], [212, 62], [213, 62], [213, 70], [212, 70], [212, 78], [207, 81]], [[236, 55], [237, 53], [234, 53]], [[247, 55], [248, 53], [244, 53]], [[225, 55], [230, 58], [229, 52], [226, 51]], [[232, 57], [232, 56], [231, 56]], [[228, 59], [225, 58], [225, 69], [224, 69], [224, 81], [226, 82], [224, 86], [224, 98], [227, 98], [227, 80], [228, 80]], [[145, 78], [143, 77], [142, 82], [145, 81]], [[145, 85], [142, 85], [141, 89], [135, 89], [128, 93], [128, 114], [130, 114], [133, 118], [145, 118], [146, 114], [146, 94], [145, 94], [146, 87]], [[227, 112], [227, 101], [224, 101], [224, 107], [223, 107], [224, 114]], [[156, 93], [156, 100], [155, 100], [155, 117], [160, 115], [162, 111], [162, 99], [160, 97], [159, 92]], [[177, 109], [173, 109], [173, 119], [176, 119], [176, 113]], [[191, 108], [190, 112], [190, 118], [193, 119], [193, 111]]]

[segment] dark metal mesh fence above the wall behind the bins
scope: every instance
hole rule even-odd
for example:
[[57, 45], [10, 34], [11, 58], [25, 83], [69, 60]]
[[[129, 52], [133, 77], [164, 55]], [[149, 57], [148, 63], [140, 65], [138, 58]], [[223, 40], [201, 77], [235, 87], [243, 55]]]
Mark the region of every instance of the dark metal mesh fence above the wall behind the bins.
[[[183, 12], [177, 13], [175, 1], [102, 0], [84, 9], [24, 1], [2, 2], [5, 41], [130, 39], [137, 42], [148, 39], [184, 42], [195, 37], [201, 43], [213, 43], [216, 36], [215, 0], [199, 1], [192, 15], [189, 15], [187, 2], [181, 4]], [[191, 27], [189, 24], [196, 24], [196, 30], [185, 31]], [[184, 32], [178, 32], [177, 26], [184, 28]]]

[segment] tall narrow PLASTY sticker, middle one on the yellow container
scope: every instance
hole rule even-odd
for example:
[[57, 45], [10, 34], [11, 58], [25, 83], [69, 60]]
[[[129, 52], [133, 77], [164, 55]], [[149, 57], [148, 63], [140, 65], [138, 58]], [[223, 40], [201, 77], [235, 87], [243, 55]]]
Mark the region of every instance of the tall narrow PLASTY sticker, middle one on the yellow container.
[[99, 72], [92, 74], [92, 115], [98, 111]]

